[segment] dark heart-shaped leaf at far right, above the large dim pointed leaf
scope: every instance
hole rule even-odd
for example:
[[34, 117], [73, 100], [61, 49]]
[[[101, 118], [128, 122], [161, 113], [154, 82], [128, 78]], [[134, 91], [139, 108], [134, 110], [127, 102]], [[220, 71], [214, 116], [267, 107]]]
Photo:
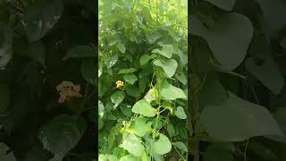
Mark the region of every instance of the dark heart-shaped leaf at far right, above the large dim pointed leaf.
[[250, 57], [245, 62], [245, 66], [248, 72], [261, 81], [273, 94], [278, 95], [281, 92], [284, 87], [284, 78], [272, 58], [266, 58], [264, 64], [257, 65]]

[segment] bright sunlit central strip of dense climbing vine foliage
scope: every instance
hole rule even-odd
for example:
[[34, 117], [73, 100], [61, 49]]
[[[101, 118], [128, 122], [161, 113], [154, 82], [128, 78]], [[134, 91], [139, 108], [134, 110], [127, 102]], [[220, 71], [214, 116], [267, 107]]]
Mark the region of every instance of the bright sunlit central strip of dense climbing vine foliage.
[[187, 1], [99, 1], [99, 160], [187, 159]]

